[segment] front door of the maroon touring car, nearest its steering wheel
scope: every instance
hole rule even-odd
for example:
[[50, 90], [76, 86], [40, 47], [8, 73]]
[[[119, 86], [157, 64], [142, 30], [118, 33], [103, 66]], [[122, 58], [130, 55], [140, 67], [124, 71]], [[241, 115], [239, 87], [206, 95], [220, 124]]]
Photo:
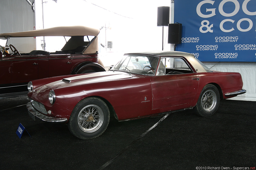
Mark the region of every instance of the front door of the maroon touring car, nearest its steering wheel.
[[12, 83], [29, 82], [38, 79], [37, 56], [13, 56]]

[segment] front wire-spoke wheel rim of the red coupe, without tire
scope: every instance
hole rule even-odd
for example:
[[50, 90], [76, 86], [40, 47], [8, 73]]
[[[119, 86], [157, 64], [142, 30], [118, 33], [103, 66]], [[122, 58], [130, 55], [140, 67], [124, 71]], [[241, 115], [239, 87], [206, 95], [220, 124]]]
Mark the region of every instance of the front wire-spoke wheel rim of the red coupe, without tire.
[[79, 127], [87, 133], [98, 130], [104, 120], [103, 111], [96, 105], [89, 105], [84, 107], [78, 115]]

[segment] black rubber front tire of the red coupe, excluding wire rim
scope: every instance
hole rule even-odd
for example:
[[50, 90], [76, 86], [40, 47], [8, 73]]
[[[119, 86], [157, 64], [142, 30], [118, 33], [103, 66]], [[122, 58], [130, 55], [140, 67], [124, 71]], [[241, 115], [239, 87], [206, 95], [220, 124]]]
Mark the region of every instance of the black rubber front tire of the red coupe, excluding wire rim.
[[[78, 114], [81, 111], [81, 109], [90, 104], [95, 104], [97, 106], [100, 105], [99, 107], [103, 111], [104, 120], [103, 120], [101, 127], [97, 131], [92, 132], [92, 133], [87, 133], [80, 129], [78, 122], [77, 122], [77, 118], [78, 118]], [[100, 98], [88, 97], [88, 98], [85, 98], [77, 103], [77, 105], [74, 107], [74, 109], [70, 115], [67, 125], [68, 125], [69, 131], [74, 136], [76, 136], [80, 139], [93, 139], [93, 138], [100, 136], [106, 130], [106, 128], [108, 127], [108, 124], [109, 124], [109, 120], [110, 120], [110, 112], [109, 112], [109, 108], [106, 105], [106, 103]]]

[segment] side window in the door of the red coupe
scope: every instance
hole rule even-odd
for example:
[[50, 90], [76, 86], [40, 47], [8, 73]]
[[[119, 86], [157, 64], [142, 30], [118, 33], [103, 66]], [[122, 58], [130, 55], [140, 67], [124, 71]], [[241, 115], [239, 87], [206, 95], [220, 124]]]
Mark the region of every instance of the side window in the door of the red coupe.
[[193, 73], [187, 62], [182, 58], [162, 57], [157, 75]]

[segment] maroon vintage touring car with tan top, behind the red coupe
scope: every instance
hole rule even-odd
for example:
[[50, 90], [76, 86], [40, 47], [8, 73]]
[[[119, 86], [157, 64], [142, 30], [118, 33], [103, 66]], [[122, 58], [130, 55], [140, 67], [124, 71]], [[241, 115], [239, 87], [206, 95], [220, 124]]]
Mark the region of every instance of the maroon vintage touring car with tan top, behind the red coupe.
[[[68, 26], [0, 34], [0, 38], [7, 39], [6, 46], [0, 46], [0, 98], [27, 95], [27, 84], [31, 80], [105, 71], [98, 58], [99, 32], [84, 26]], [[9, 45], [13, 52], [9, 54], [7, 43], [10, 37], [28, 37], [28, 42], [33, 44], [33, 37], [40, 36], [58, 36], [63, 39], [64, 46], [58, 51], [32, 50], [22, 53], [19, 50], [23, 51], [22, 47], [27, 45], [17, 43], [20, 41], [17, 40], [17, 48]], [[68, 41], [65, 43], [65, 40]]]

